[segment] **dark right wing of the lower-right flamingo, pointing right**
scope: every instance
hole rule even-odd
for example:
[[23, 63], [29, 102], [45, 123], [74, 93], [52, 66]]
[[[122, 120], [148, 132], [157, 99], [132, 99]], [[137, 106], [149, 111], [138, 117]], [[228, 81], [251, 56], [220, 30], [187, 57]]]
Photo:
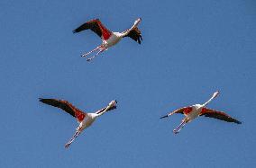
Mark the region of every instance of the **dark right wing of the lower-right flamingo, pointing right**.
[[208, 118], [214, 118], [214, 119], [221, 119], [227, 122], [234, 122], [236, 124], [242, 124], [241, 121], [237, 120], [237, 119], [233, 119], [232, 117], [230, 117], [229, 115], [227, 115], [226, 113], [222, 112], [222, 111], [215, 111], [215, 110], [211, 110], [211, 109], [207, 109], [204, 108], [200, 114], [200, 116], [205, 116]]

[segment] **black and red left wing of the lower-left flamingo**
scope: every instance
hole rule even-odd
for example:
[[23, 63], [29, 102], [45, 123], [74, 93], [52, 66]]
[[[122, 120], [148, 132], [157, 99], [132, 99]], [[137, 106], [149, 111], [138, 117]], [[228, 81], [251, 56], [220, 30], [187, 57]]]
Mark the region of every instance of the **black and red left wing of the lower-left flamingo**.
[[42, 98], [40, 98], [39, 101], [54, 107], [58, 107], [59, 109], [68, 112], [71, 116], [77, 118], [78, 121], [83, 120], [87, 115], [87, 113], [80, 111], [78, 108], [73, 106], [68, 101], [57, 100], [57, 99], [42, 99]]

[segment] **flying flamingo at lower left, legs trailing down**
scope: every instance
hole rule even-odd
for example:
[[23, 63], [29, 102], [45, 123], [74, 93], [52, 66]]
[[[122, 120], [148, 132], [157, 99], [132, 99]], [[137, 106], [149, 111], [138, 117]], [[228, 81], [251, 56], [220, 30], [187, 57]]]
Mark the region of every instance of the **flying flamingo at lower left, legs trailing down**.
[[91, 124], [101, 115], [103, 115], [106, 111], [112, 111], [116, 109], [116, 103], [117, 101], [114, 100], [112, 102], [109, 102], [109, 104], [96, 112], [93, 113], [87, 113], [84, 111], [80, 111], [78, 108], [73, 106], [70, 102], [68, 101], [63, 101], [63, 100], [57, 100], [57, 99], [39, 99], [40, 102], [43, 102], [45, 104], [58, 107], [63, 111], [68, 112], [71, 116], [75, 117], [78, 120], [78, 128], [76, 129], [77, 131], [75, 132], [74, 136], [69, 140], [69, 142], [65, 145], [65, 147], [69, 147], [71, 143], [75, 140], [76, 137], [79, 136], [79, 134], [85, 129], [91, 126]]

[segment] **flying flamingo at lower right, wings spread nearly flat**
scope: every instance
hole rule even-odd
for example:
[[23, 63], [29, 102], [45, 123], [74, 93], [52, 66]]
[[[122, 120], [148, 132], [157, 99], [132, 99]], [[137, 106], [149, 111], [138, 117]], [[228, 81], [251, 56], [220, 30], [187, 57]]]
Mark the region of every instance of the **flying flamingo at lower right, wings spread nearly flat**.
[[178, 134], [178, 132], [180, 131], [181, 128], [183, 128], [188, 122], [192, 121], [193, 119], [196, 119], [199, 116], [205, 116], [205, 117], [214, 118], [214, 119], [221, 119], [221, 120], [224, 120], [227, 122], [234, 122], [236, 124], [242, 124], [241, 121], [239, 121], [237, 119], [233, 119], [232, 117], [230, 117], [223, 111], [215, 111], [215, 110], [206, 108], [206, 105], [209, 102], [211, 102], [213, 99], [215, 99], [215, 97], [217, 97], [217, 95], [219, 93], [220, 92], [215, 92], [212, 95], [212, 97], [204, 104], [195, 104], [192, 106], [180, 108], [176, 111], [170, 112], [168, 115], [165, 115], [165, 116], [161, 117], [160, 119], [167, 118], [167, 117], [171, 116], [172, 114], [176, 114], [176, 113], [184, 114], [185, 118], [182, 119], [182, 122], [178, 125], [178, 128], [173, 129], [173, 132], [175, 134]]

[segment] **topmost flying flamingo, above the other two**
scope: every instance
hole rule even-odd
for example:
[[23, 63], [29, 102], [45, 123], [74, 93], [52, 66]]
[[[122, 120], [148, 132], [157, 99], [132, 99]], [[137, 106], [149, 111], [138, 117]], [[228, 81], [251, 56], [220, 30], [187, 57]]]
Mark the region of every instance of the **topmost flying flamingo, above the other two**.
[[123, 32], [113, 32], [109, 31], [105, 28], [102, 22], [100, 22], [99, 19], [94, 19], [91, 21], [88, 21], [82, 25], [80, 25], [77, 29], [73, 31], [73, 33], [77, 33], [80, 31], [85, 31], [90, 29], [91, 31], [94, 31], [102, 40], [102, 44], [96, 49], [93, 49], [86, 54], [83, 54], [81, 57], [87, 57], [87, 55], [91, 54], [92, 52], [98, 50], [95, 56], [87, 58], [87, 61], [92, 60], [94, 57], [96, 57], [98, 54], [102, 53], [103, 51], [109, 49], [110, 47], [114, 46], [116, 43], [118, 43], [121, 39], [124, 37], [132, 38], [133, 40], [137, 41], [139, 44], [141, 44], [142, 40], [142, 34], [141, 31], [138, 29], [138, 24], [142, 21], [141, 18], [137, 19], [133, 26]]

